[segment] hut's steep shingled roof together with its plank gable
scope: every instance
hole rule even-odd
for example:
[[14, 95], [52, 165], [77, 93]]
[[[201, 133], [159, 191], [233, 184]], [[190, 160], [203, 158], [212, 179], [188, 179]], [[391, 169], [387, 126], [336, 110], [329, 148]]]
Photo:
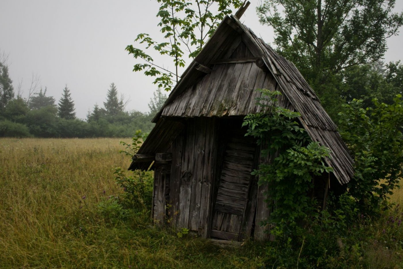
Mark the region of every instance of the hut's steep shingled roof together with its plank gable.
[[[235, 51], [237, 50], [237, 51]], [[274, 77], [274, 79], [272, 79]], [[236, 16], [226, 16], [203, 50], [187, 67], [159, 113], [156, 126], [138, 154], [163, 152], [183, 124], [170, 117], [242, 116], [260, 111], [258, 88], [279, 90], [279, 105], [298, 111], [313, 141], [330, 148], [326, 163], [341, 184], [353, 177], [353, 159], [337, 126], [318, 96], [293, 63], [278, 55]], [[150, 162], [133, 161], [129, 169], [146, 169]]]

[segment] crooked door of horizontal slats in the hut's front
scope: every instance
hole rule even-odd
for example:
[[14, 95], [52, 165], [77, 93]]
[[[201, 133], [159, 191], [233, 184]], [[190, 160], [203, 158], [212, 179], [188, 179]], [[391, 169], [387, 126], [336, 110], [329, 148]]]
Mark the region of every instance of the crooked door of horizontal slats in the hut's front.
[[244, 133], [241, 130], [226, 133], [222, 168], [212, 213], [210, 236], [214, 238], [239, 240], [245, 220], [245, 207], [251, 195], [249, 190], [256, 142], [245, 137]]

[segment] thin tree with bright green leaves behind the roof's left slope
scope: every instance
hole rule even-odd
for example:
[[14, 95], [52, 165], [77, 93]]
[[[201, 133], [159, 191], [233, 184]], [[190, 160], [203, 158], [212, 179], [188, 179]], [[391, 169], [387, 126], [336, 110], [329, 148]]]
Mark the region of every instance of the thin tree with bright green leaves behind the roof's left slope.
[[[135, 48], [133, 45], [126, 47], [134, 58], [141, 58], [142, 63], [137, 63], [133, 71], [143, 71], [147, 76], [155, 76], [154, 84], [166, 91], [171, 90], [173, 83], [179, 80], [178, 67], [185, 67], [185, 51], [189, 57], [194, 58], [202, 50], [206, 40], [214, 33], [218, 23], [225, 15], [231, 14], [231, 6], [238, 8], [240, 0], [157, 0], [161, 3], [157, 13], [161, 33], [164, 42], [157, 42], [147, 33], [137, 35], [135, 42], [144, 44], [145, 50]], [[216, 13], [212, 10], [215, 10]], [[154, 59], [148, 51], [156, 50], [160, 55], [172, 58], [175, 70], [169, 71], [162, 65], [154, 63]]]

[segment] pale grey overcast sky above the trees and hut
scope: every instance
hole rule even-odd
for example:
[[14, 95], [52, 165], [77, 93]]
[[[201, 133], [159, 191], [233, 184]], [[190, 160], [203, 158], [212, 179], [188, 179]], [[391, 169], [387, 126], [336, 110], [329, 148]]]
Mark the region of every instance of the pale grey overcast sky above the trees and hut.
[[[259, 1], [250, 1], [241, 21], [272, 42], [273, 32], [256, 16]], [[58, 101], [67, 84], [77, 117], [84, 119], [95, 104], [103, 106], [114, 82], [131, 99], [128, 110], [148, 111], [156, 85], [132, 71], [137, 62], [125, 47], [138, 33], [160, 36], [159, 6], [155, 0], [0, 0], [0, 52], [8, 54], [15, 89], [22, 79], [25, 97], [37, 74], [47, 95]], [[397, 0], [395, 12], [402, 10], [403, 1]], [[402, 44], [403, 33], [388, 40], [386, 62], [403, 59]]]

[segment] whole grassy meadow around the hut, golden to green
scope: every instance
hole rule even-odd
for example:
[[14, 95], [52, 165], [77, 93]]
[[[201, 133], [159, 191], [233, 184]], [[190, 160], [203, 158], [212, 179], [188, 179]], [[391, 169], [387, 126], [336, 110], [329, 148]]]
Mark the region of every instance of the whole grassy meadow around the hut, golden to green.
[[[119, 141], [0, 138], [0, 268], [272, 268], [275, 244], [221, 249], [154, 227], [144, 211], [105, 214], [105, 205], [114, 206], [110, 196], [123, 194], [114, 167], [130, 163]], [[402, 204], [403, 191], [392, 200]], [[337, 255], [325, 253], [327, 267], [403, 266], [401, 214], [398, 207], [377, 225], [363, 221], [353, 242], [346, 235]], [[290, 251], [302, 268], [304, 252]]]

